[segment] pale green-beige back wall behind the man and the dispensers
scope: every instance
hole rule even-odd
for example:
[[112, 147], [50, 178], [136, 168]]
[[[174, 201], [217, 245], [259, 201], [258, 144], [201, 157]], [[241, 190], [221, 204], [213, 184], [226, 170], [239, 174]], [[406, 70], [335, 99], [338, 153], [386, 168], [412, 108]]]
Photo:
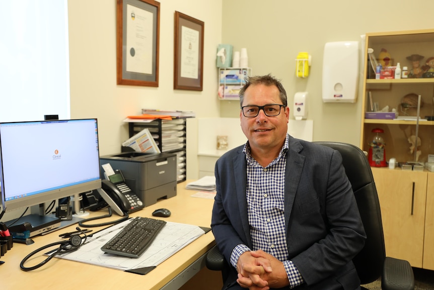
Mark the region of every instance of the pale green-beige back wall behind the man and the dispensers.
[[[253, 75], [271, 73], [281, 79], [290, 114], [294, 94], [309, 92], [308, 119], [314, 120], [314, 141], [340, 141], [358, 146], [361, 85], [356, 103], [322, 102], [325, 43], [360, 41], [360, 35], [369, 32], [430, 29], [432, 21], [425, 12], [433, 9], [434, 2], [429, 0], [411, 4], [404, 0], [223, 0], [222, 43], [232, 44], [238, 51], [247, 48]], [[311, 74], [306, 79], [295, 75], [295, 59], [300, 51], [312, 55]], [[408, 64], [401, 63], [404, 65]], [[220, 114], [238, 117], [239, 102], [222, 101]]]

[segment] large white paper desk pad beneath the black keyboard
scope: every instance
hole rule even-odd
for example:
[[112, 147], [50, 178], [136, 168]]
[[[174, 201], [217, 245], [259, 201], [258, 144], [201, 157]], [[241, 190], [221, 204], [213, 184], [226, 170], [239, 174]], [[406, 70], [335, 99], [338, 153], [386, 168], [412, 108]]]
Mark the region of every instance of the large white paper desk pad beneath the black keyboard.
[[125, 227], [131, 219], [110, 226], [88, 238], [77, 251], [56, 257], [118, 270], [157, 266], [176, 252], [204, 235], [199, 226], [167, 222], [151, 246], [138, 258], [104, 253], [101, 247]]

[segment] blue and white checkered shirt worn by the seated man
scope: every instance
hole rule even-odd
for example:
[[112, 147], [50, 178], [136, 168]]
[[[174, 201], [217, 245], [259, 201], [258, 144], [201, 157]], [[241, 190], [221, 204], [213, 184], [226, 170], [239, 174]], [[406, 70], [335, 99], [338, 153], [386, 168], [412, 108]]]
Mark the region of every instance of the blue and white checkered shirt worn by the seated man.
[[253, 249], [238, 245], [231, 254], [231, 264], [236, 268], [241, 254], [246, 251], [263, 250], [283, 265], [290, 287], [303, 283], [303, 277], [292, 261], [288, 261], [284, 218], [284, 187], [288, 135], [279, 155], [265, 168], [250, 155], [248, 142], [243, 152], [247, 159], [247, 213]]

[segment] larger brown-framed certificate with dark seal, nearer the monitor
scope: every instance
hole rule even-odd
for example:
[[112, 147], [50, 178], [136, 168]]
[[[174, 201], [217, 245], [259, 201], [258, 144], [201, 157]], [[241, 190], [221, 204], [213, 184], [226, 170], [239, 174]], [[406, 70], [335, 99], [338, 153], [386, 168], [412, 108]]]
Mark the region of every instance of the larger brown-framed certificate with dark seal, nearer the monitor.
[[117, 84], [158, 87], [160, 3], [117, 0]]

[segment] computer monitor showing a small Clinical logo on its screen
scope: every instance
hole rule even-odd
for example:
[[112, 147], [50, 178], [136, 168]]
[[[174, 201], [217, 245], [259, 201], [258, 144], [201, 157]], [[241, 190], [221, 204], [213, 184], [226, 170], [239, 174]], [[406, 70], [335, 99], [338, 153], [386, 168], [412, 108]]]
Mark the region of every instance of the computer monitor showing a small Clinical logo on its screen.
[[7, 211], [101, 188], [96, 119], [0, 123]]

